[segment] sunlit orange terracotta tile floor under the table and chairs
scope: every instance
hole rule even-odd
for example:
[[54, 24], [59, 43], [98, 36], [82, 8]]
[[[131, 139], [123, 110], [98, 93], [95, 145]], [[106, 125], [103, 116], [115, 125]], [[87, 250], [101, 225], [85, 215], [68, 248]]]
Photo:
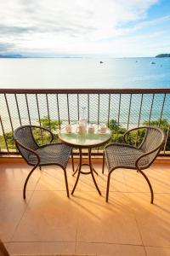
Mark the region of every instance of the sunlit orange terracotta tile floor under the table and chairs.
[[[155, 191], [137, 172], [117, 170], [111, 177], [109, 203], [105, 203], [107, 171], [94, 164], [101, 189], [92, 177], [81, 176], [74, 196], [66, 197], [64, 174], [54, 166], [31, 176], [26, 164], [0, 164], [0, 238], [10, 253], [63, 253], [121, 256], [170, 255], [170, 162], [147, 170]], [[68, 165], [69, 187], [72, 177]]]

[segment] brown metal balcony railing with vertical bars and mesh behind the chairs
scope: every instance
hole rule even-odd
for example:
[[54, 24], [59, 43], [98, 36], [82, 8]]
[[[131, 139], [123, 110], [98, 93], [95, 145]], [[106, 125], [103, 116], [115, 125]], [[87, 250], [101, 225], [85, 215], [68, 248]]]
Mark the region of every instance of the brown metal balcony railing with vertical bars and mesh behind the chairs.
[[169, 106], [170, 89], [0, 89], [0, 154], [16, 153], [12, 134], [20, 125], [42, 125], [55, 133], [83, 115], [89, 123], [109, 125], [113, 142], [122, 142], [122, 134], [134, 126], [159, 126], [166, 133], [161, 154], [167, 155]]

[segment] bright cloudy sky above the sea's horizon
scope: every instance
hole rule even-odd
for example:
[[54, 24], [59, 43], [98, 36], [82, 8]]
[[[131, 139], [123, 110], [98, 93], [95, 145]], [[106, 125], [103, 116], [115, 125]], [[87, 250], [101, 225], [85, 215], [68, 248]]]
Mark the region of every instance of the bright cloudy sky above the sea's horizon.
[[170, 53], [170, 0], [0, 0], [0, 55]]

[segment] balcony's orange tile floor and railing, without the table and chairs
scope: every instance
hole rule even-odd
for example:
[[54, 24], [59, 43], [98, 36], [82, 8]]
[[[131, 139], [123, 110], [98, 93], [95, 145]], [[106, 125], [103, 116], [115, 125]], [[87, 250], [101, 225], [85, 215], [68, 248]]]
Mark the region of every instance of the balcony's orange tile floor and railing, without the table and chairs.
[[[9, 253], [169, 255], [169, 94], [168, 89], [0, 90], [0, 238]], [[89, 122], [111, 125], [116, 120], [113, 141], [121, 142], [122, 131], [144, 122], [164, 129], [166, 143], [145, 171], [155, 192], [154, 205], [144, 178], [125, 169], [116, 170], [111, 177], [110, 201], [105, 203], [107, 171], [101, 173], [102, 148], [95, 148], [93, 157], [102, 196], [91, 177], [82, 176], [74, 196], [68, 199], [63, 173], [48, 166], [32, 174], [23, 200], [23, 184], [31, 167], [18, 156], [10, 132], [20, 125], [42, 125], [43, 117], [48, 117], [53, 131], [53, 121], [59, 120], [59, 126], [74, 123], [84, 108]], [[133, 143], [138, 140], [137, 134]], [[75, 148], [76, 165], [77, 158]], [[76, 181], [71, 163], [67, 170], [71, 190]]]

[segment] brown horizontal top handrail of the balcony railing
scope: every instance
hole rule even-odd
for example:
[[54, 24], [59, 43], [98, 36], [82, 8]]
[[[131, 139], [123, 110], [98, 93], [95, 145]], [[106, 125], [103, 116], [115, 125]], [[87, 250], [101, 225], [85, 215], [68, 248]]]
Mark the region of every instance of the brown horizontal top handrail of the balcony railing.
[[125, 88], [125, 89], [0, 89], [0, 94], [161, 94], [170, 93], [170, 88]]

